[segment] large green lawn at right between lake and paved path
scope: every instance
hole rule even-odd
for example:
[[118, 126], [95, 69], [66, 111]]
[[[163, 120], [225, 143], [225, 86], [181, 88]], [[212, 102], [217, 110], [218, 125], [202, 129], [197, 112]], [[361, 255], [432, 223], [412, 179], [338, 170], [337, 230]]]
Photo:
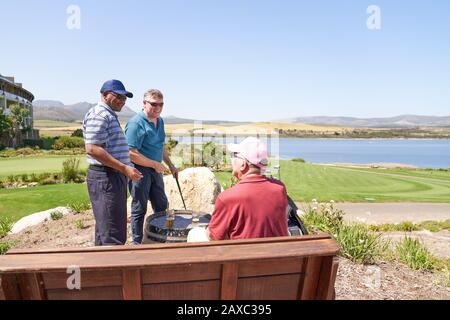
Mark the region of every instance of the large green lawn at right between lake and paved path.
[[[450, 172], [439, 178], [386, 174], [386, 171], [350, 170], [348, 168], [280, 161], [281, 180], [295, 201], [339, 202], [441, 202], [450, 203]], [[424, 172], [426, 170], [423, 170]], [[229, 185], [231, 173], [216, 174], [222, 185]]]

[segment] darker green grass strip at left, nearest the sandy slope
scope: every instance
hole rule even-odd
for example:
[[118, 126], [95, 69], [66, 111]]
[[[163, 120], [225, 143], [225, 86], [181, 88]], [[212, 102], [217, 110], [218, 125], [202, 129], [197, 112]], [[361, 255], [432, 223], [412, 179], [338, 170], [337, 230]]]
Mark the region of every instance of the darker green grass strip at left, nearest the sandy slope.
[[59, 184], [28, 189], [0, 189], [0, 217], [13, 221], [40, 211], [89, 201], [85, 184]]

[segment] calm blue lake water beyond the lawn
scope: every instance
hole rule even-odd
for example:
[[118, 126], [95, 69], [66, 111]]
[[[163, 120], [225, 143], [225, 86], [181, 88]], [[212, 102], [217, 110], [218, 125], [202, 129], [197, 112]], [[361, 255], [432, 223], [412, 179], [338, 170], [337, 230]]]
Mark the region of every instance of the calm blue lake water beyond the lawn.
[[[203, 141], [211, 138], [204, 137]], [[213, 139], [218, 143], [239, 142]], [[195, 138], [199, 143], [201, 138]], [[267, 141], [267, 140], [266, 140]], [[180, 141], [181, 142], [181, 141]], [[297, 139], [267, 141], [280, 159], [303, 158], [312, 163], [402, 163], [420, 168], [450, 168], [450, 140], [421, 139]], [[271, 152], [272, 156], [276, 156]]]

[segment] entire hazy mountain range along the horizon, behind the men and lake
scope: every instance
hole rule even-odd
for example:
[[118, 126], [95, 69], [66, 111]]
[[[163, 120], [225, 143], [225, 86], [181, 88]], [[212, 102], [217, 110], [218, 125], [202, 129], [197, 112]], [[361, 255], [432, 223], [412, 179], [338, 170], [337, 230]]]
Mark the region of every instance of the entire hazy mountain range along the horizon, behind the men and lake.
[[[36, 120], [58, 120], [67, 122], [82, 121], [86, 112], [95, 104], [80, 102], [73, 105], [64, 105], [60, 101], [36, 100], [33, 102], [33, 113]], [[121, 121], [127, 121], [136, 114], [128, 107], [124, 107], [118, 113]], [[177, 118], [174, 116], [164, 117], [167, 124], [194, 123], [201, 121], [203, 124], [211, 125], [244, 125], [249, 122], [221, 121], [221, 120], [193, 120]], [[401, 115], [390, 118], [353, 118], [353, 117], [298, 117], [290, 119], [275, 120], [273, 122], [312, 124], [321, 126], [342, 126], [351, 128], [415, 128], [415, 127], [450, 127], [450, 116], [418, 116]]]

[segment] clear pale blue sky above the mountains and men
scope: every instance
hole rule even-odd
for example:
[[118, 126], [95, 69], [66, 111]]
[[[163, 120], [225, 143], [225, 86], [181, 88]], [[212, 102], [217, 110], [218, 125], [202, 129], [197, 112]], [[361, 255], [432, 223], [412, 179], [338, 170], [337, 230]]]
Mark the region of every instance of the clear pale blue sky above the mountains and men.
[[0, 1], [0, 73], [36, 99], [96, 102], [118, 78], [135, 110], [161, 89], [165, 116], [450, 114], [447, 0]]

